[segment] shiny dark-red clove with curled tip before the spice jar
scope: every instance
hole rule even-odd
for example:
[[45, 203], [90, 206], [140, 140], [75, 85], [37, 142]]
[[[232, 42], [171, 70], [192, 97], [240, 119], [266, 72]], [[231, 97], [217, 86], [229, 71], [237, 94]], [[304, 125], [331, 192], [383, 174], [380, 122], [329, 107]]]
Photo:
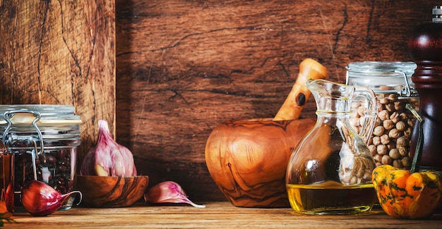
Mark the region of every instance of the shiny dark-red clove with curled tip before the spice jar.
[[66, 197], [75, 193], [80, 195], [79, 204], [82, 197], [81, 192], [73, 191], [61, 194], [44, 182], [31, 180], [22, 187], [21, 202], [32, 216], [47, 216], [57, 211]]

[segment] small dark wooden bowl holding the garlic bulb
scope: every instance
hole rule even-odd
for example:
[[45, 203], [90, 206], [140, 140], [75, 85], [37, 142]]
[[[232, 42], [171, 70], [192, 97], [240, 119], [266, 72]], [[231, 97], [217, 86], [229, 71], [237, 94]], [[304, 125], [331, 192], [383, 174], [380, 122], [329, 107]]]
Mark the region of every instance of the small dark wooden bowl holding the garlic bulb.
[[143, 197], [149, 177], [77, 175], [76, 187], [83, 194], [82, 205], [97, 208], [131, 206]]

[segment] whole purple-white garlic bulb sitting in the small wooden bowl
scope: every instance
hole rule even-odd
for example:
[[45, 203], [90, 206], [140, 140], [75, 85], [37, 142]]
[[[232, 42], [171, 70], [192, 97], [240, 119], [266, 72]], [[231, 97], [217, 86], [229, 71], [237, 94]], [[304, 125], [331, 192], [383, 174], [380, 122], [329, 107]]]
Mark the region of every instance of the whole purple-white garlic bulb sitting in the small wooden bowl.
[[135, 176], [132, 152], [118, 144], [109, 132], [105, 120], [98, 121], [98, 140], [86, 154], [80, 175]]

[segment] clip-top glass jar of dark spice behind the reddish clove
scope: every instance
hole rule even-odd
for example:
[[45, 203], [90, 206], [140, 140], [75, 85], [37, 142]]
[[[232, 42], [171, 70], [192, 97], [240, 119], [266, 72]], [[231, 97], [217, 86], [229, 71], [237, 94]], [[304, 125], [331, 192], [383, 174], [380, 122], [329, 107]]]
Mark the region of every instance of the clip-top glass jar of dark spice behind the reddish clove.
[[[0, 105], [0, 137], [13, 155], [15, 206], [21, 205], [21, 187], [30, 180], [61, 194], [73, 190], [80, 123], [73, 106]], [[60, 210], [70, 209], [74, 198], [66, 199]]]

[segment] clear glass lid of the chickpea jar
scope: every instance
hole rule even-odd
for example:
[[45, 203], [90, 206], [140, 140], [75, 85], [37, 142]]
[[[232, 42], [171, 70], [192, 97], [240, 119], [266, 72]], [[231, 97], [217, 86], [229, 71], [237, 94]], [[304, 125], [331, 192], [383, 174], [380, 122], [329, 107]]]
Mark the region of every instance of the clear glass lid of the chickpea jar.
[[359, 61], [349, 63], [347, 85], [370, 87], [376, 93], [417, 96], [411, 77], [417, 68], [413, 62]]

